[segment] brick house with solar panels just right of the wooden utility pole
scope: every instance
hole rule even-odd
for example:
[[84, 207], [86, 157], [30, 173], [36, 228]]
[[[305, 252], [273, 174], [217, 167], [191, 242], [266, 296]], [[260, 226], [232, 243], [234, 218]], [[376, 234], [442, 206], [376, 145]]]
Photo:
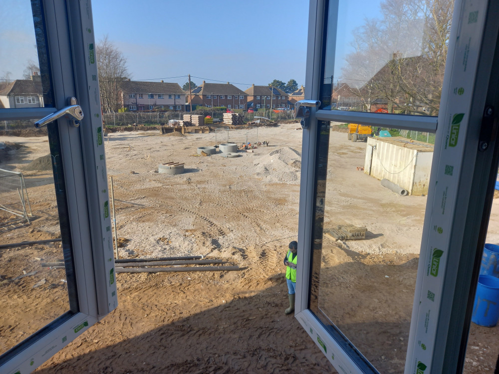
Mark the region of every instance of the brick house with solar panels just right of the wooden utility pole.
[[[189, 94], [188, 103], [191, 103]], [[246, 109], [248, 94], [233, 84], [227, 83], [206, 83], [192, 90], [192, 105], [212, 107], [226, 107], [229, 109]]]

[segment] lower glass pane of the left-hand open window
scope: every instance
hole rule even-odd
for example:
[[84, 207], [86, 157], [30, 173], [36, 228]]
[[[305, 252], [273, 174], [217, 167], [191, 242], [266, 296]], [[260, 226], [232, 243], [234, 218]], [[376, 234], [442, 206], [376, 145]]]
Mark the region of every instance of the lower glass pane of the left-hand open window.
[[[0, 124], [3, 354], [78, 306], [56, 125], [36, 130], [33, 121]], [[25, 241], [33, 243], [18, 244]]]

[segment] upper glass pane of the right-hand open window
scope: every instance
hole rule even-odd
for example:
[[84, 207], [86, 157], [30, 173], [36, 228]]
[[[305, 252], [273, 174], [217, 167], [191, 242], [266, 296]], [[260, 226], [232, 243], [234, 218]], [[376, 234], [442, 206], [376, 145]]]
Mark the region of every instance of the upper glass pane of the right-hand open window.
[[437, 116], [453, 5], [329, 2], [322, 109]]

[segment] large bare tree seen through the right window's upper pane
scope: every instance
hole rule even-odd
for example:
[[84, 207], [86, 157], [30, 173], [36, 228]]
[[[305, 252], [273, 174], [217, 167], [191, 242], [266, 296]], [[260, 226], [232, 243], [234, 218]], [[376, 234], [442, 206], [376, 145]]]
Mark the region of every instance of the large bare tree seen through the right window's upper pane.
[[380, 6], [382, 19], [366, 19], [354, 30], [343, 80], [368, 111], [382, 102], [391, 113], [436, 114], [453, 1], [384, 0]]

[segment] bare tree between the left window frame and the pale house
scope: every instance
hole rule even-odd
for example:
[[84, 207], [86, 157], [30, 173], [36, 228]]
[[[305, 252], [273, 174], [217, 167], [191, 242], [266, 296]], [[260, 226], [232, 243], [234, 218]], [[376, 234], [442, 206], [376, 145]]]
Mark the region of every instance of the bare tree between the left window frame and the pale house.
[[122, 107], [121, 82], [129, 78], [127, 61], [123, 53], [116, 48], [108, 36], [97, 43], [97, 69], [102, 109], [106, 113], [115, 113]]

